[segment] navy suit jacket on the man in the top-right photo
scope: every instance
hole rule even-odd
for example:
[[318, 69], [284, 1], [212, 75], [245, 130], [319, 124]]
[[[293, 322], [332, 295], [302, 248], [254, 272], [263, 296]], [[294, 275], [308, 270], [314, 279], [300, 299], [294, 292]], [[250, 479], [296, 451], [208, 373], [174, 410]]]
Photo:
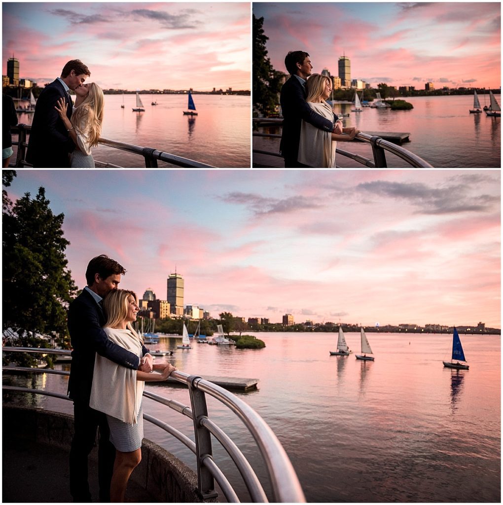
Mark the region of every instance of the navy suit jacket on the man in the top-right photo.
[[298, 158], [298, 144], [300, 142], [300, 127], [302, 120], [325, 131], [333, 131], [337, 116], [334, 120], [324, 118], [309, 107], [306, 102], [307, 93], [300, 81], [291, 75], [283, 84], [280, 93], [281, 111], [283, 113], [283, 128], [281, 131], [280, 153], [285, 159]]

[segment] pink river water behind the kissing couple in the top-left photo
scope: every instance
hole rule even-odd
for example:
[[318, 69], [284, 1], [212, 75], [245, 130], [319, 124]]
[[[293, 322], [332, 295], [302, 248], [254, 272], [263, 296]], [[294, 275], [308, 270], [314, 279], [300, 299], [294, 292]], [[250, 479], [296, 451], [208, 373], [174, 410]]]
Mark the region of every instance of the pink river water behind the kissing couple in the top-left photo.
[[[136, 95], [105, 95], [102, 137], [142, 147], [154, 147], [208, 165], [250, 166], [250, 97], [195, 94], [197, 116], [185, 116], [187, 96], [140, 95], [145, 112], [133, 112]], [[151, 105], [156, 101], [158, 105]], [[21, 103], [21, 106], [25, 104]], [[18, 114], [31, 123], [33, 114]], [[93, 157], [125, 168], [145, 166], [141, 156], [104, 145], [92, 149]], [[159, 162], [159, 167], [168, 165]]]

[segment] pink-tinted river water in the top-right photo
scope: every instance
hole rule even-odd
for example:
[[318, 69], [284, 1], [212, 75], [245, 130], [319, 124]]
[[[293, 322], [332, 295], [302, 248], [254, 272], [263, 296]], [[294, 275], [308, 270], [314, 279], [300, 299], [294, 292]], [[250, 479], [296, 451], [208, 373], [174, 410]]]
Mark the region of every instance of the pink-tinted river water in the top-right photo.
[[[495, 97], [501, 104], [501, 96]], [[435, 168], [501, 168], [501, 118], [488, 117], [485, 113], [470, 114], [473, 95], [413, 96], [405, 99], [414, 109], [391, 111], [364, 107], [362, 112], [356, 113], [350, 112], [354, 108], [351, 104], [334, 104], [334, 112], [349, 113], [348, 118], [343, 118], [344, 126], [355, 126], [363, 132], [410, 133], [410, 142], [402, 146]], [[480, 102], [483, 107], [483, 95]], [[279, 133], [279, 128], [267, 130]], [[255, 137], [253, 145], [254, 149], [277, 152], [279, 141]], [[373, 159], [367, 143], [338, 142], [337, 147]], [[394, 155], [386, 154], [386, 159], [389, 167], [408, 166]], [[343, 168], [361, 167], [341, 155], [337, 155], [336, 164]]]

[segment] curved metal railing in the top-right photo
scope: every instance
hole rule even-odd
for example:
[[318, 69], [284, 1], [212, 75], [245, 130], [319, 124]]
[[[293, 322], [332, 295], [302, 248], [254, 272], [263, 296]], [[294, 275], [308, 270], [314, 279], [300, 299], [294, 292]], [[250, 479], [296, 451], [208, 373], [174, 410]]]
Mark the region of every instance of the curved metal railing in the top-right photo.
[[[278, 118], [253, 118], [253, 124], [254, 124], [254, 130], [255, 127], [258, 127], [259, 125], [264, 125], [264, 124], [271, 124], [275, 126], [281, 126], [283, 123], [282, 119]], [[276, 133], [261, 133], [261, 132], [253, 132], [254, 137], [269, 137], [269, 138], [281, 138], [280, 134]], [[420, 158], [419, 156], [415, 155], [414, 153], [411, 153], [411, 151], [404, 149], [400, 145], [393, 144], [393, 142], [390, 142], [389, 140], [384, 140], [383, 138], [376, 136], [376, 135], [368, 135], [367, 133], [359, 133], [355, 138], [358, 140], [361, 140], [362, 142], [367, 142], [371, 145], [372, 147], [372, 155], [373, 155], [373, 160], [370, 160], [368, 158], [365, 158], [364, 156], [357, 155], [354, 153], [351, 153], [350, 151], [346, 151], [344, 149], [340, 149], [337, 147], [335, 149], [336, 153], [345, 156], [346, 158], [350, 158], [351, 160], [355, 160], [356, 162], [360, 163], [361, 165], [365, 167], [370, 167], [370, 168], [386, 168], [387, 161], [386, 161], [386, 151], [388, 153], [391, 153], [405, 162], [407, 162], [411, 167], [415, 168], [433, 168], [428, 162]], [[265, 150], [260, 150], [260, 149], [253, 149], [253, 153], [257, 154], [263, 154], [263, 155], [269, 155], [269, 156], [277, 156], [279, 158], [282, 158], [282, 156], [279, 153], [273, 153], [271, 151], [265, 151]]]

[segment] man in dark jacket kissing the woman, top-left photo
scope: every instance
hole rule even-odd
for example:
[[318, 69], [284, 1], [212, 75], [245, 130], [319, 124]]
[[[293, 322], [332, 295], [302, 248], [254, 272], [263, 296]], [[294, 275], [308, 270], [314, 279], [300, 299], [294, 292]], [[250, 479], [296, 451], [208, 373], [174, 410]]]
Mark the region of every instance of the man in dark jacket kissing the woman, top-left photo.
[[80, 60], [69, 61], [58, 77], [40, 93], [33, 121], [26, 161], [35, 168], [69, 168], [69, 153], [75, 149], [68, 129], [55, 109], [60, 98], [68, 105], [66, 114], [72, 117], [70, 90], [80, 86], [91, 73]]

